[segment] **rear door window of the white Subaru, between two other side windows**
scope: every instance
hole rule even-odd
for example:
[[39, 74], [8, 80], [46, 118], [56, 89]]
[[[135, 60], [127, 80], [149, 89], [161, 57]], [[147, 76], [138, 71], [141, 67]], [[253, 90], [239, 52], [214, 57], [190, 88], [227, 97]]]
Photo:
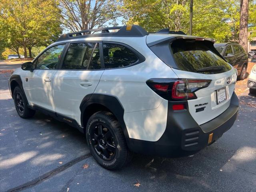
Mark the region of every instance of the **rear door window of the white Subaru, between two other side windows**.
[[70, 44], [62, 64], [62, 69], [87, 69], [95, 45], [96, 43]]

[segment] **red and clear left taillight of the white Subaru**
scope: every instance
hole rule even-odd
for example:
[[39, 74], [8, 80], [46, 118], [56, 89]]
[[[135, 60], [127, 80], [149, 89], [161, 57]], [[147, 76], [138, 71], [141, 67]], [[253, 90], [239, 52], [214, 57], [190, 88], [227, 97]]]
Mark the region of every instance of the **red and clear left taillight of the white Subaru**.
[[212, 80], [206, 79], [150, 79], [146, 83], [166, 100], [196, 99], [195, 92], [208, 87]]

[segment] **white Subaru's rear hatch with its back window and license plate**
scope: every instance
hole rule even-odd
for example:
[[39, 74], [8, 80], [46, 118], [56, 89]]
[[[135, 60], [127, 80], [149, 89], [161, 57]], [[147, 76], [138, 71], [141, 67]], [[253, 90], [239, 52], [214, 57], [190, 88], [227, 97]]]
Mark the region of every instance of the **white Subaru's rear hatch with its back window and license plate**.
[[[236, 84], [236, 69], [222, 58], [213, 44], [205, 38], [183, 36], [150, 47], [178, 78], [187, 83], [186, 94], [196, 85], [193, 93], [196, 98], [186, 99], [189, 112], [199, 125], [228, 108]], [[210, 80], [210, 84], [200, 88], [200, 80]]]

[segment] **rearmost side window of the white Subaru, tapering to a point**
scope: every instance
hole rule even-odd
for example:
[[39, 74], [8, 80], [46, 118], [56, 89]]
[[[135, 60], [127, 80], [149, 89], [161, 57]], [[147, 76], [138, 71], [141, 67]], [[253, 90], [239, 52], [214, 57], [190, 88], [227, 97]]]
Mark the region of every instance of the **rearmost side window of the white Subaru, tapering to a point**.
[[125, 67], [138, 61], [129, 48], [112, 43], [103, 43], [103, 57], [106, 69]]

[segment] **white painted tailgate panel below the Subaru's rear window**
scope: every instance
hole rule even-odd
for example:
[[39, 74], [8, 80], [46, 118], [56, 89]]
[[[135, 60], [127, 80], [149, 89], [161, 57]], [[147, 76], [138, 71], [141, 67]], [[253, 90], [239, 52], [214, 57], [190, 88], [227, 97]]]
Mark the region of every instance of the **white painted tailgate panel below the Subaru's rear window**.
[[[211, 84], [203, 89], [200, 89], [195, 92], [197, 99], [188, 100], [189, 112], [194, 118], [194, 120], [199, 124], [204, 124], [213, 118], [216, 118], [222, 114], [230, 105], [230, 98], [234, 92], [236, 84], [236, 69], [232, 69], [228, 72], [219, 73], [219, 74], [199, 74], [193, 72], [184, 72], [182, 70], [173, 69], [179, 78], [193, 78], [193, 79], [209, 79], [212, 80]], [[227, 84], [227, 78], [230, 77], [231, 82]], [[220, 104], [217, 104], [216, 100], [216, 90], [220, 88], [226, 88], [227, 99]], [[195, 105], [208, 103], [201, 107], [204, 108], [201, 112], [196, 112]]]

